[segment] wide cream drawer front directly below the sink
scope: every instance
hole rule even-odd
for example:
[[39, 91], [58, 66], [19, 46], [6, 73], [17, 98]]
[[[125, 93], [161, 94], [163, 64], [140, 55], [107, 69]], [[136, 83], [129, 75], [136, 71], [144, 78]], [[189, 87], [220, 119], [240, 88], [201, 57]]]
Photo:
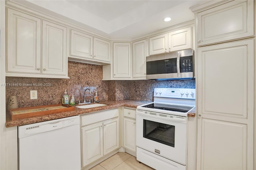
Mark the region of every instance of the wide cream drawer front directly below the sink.
[[118, 109], [111, 109], [106, 111], [100, 111], [88, 115], [81, 116], [81, 127], [90, 125], [92, 123], [101, 122], [107, 119], [113, 119], [118, 117]]

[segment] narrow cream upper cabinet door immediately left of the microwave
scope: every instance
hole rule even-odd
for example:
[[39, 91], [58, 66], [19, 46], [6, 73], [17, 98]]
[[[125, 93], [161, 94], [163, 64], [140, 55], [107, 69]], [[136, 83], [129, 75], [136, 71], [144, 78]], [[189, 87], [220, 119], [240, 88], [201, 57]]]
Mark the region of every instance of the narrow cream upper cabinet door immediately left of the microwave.
[[146, 78], [146, 40], [133, 43], [133, 75]]

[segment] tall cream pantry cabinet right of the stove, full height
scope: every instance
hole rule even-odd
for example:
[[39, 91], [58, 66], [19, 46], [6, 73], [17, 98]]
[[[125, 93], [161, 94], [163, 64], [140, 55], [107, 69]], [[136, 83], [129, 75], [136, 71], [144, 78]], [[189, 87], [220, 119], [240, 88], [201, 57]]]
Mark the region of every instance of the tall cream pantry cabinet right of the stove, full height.
[[198, 170], [252, 170], [255, 147], [254, 1], [208, 2], [196, 21]]

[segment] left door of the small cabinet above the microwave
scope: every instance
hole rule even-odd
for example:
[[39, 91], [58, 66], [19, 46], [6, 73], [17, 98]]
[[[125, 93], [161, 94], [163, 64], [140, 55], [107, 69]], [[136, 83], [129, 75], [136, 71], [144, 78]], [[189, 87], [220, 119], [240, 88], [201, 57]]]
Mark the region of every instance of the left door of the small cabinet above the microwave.
[[168, 34], [149, 38], [149, 55], [166, 53], [168, 48]]

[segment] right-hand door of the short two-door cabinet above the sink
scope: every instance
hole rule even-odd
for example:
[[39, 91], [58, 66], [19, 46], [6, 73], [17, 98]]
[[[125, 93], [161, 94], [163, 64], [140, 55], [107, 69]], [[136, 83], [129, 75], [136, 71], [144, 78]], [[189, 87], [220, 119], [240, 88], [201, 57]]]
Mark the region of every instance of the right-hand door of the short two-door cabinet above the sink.
[[110, 42], [94, 38], [94, 59], [110, 62]]

